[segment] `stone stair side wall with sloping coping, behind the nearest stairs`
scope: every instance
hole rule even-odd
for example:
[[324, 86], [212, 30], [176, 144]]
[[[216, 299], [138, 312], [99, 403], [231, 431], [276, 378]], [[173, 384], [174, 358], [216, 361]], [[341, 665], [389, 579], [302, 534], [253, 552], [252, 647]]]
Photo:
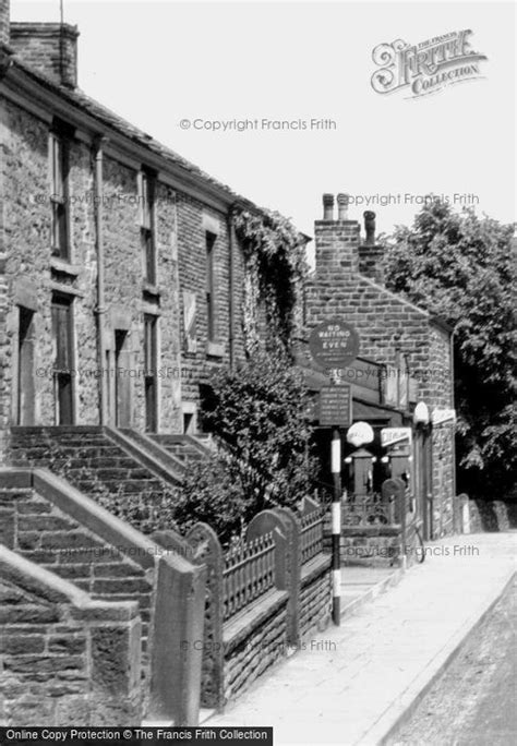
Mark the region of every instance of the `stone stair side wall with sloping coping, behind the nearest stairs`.
[[181, 460], [158, 450], [103, 426], [12, 428], [10, 437], [11, 466], [48, 468], [108, 508], [111, 496], [120, 506], [116, 515], [142, 530], [124, 507], [147, 513], [181, 483], [184, 471]]

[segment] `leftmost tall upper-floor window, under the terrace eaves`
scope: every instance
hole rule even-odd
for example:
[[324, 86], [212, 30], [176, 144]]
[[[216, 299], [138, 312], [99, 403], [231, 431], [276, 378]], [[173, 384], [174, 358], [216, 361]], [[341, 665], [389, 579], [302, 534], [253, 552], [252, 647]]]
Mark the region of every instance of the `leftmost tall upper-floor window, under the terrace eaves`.
[[51, 244], [52, 254], [63, 260], [70, 258], [69, 251], [69, 164], [68, 142], [64, 137], [50, 134], [50, 172], [52, 207]]

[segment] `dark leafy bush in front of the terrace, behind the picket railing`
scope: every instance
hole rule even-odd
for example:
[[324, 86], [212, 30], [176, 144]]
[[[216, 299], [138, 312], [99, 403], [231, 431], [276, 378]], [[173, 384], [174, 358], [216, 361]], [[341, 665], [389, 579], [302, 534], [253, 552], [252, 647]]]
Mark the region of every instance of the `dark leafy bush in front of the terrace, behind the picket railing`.
[[[203, 426], [219, 454], [187, 478], [189, 515], [226, 537], [275, 505], [294, 506], [311, 490], [314, 459], [306, 392], [287, 354], [256, 350], [212, 381]], [[177, 513], [179, 522], [182, 516]]]

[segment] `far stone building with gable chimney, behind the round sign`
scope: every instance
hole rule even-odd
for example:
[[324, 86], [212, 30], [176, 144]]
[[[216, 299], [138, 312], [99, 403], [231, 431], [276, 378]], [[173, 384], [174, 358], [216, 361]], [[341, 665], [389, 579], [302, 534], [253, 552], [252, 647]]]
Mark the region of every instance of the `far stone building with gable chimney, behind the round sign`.
[[[383, 248], [375, 241], [374, 214], [365, 213], [365, 233], [348, 217], [348, 200], [325, 194], [323, 219], [314, 224], [315, 273], [305, 288], [308, 329], [328, 318], [352, 324], [360, 335], [360, 356], [380, 364], [388, 375], [384, 398], [389, 395], [389, 373], [407, 376], [410, 394], [396, 408], [400, 425], [413, 424], [413, 409], [423, 401], [433, 416], [454, 408], [452, 329], [404, 297], [386, 289], [382, 276]], [[353, 371], [351, 371], [353, 373]], [[364, 419], [357, 417], [356, 419]], [[436, 424], [429, 432], [428, 493], [429, 537], [452, 530], [454, 478], [454, 426]], [[418, 433], [413, 433], [418, 436]], [[413, 467], [414, 468], [414, 467]]]

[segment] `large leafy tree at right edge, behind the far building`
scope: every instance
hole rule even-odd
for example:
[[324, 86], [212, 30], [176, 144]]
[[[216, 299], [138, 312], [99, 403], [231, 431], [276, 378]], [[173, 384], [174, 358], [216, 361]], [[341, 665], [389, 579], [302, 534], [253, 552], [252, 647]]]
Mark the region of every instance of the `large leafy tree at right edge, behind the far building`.
[[455, 327], [458, 489], [515, 489], [517, 461], [514, 226], [430, 201], [385, 254], [387, 286]]

